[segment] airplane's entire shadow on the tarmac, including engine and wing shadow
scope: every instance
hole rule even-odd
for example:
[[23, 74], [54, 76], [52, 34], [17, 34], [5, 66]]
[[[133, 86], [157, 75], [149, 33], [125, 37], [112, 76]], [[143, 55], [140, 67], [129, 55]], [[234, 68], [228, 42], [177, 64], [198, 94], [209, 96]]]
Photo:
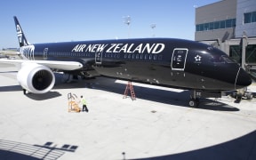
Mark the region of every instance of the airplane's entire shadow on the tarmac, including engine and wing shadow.
[[[116, 83], [116, 79], [108, 78], [108, 77], [97, 77], [86, 80], [77, 80], [71, 83], [65, 84], [61, 81], [61, 74], [55, 74], [56, 83], [53, 89], [76, 89], [76, 88], [92, 88], [98, 89], [107, 92], [115, 92], [120, 94], [120, 97], [124, 96], [124, 90], [126, 88], [126, 84], [118, 84]], [[190, 92], [186, 90], [180, 90], [181, 92], [172, 92], [166, 90], [160, 90], [155, 88], [147, 88], [133, 85], [134, 92], [136, 94], [136, 98], [142, 100], [151, 100], [164, 104], [172, 104], [180, 107], [188, 107], [188, 100], [190, 97]], [[9, 85], [9, 86], [1, 86], [0, 92], [13, 92], [20, 91], [23, 94], [23, 91], [20, 85]], [[131, 95], [131, 94], [129, 94]], [[46, 92], [44, 94], [26, 94], [29, 99], [32, 100], [49, 100], [56, 97], [60, 97], [60, 92]], [[208, 110], [220, 110], [220, 111], [239, 111], [238, 108], [234, 108], [232, 106], [228, 106], [225, 103], [220, 101], [203, 99], [199, 105], [201, 109]]]

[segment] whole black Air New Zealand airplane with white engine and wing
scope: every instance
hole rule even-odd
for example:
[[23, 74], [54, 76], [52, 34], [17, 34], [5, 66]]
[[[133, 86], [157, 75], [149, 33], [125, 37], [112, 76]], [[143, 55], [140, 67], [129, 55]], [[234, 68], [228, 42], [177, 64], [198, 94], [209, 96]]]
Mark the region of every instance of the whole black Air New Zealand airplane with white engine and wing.
[[220, 97], [221, 92], [252, 84], [243, 68], [208, 44], [156, 37], [29, 44], [13, 18], [20, 60], [0, 62], [20, 68], [17, 80], [24, 93], [49, 92], [55, 84], [53, 72], [63, 72], [67, 82], [76, 76], [108, 76], [190, 90], [188, 105], [198, 107], [200, 98]]

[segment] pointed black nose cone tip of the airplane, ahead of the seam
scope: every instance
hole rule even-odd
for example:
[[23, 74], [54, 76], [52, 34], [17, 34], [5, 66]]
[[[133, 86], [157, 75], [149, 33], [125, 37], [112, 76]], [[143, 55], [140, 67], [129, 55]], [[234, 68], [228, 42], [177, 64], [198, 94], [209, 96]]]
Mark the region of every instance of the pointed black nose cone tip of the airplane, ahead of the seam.
[[244, 71], [243, 68], [239, 68], [236, 76], [235, 89], [244, 88], [252, 84], [251, 77]]

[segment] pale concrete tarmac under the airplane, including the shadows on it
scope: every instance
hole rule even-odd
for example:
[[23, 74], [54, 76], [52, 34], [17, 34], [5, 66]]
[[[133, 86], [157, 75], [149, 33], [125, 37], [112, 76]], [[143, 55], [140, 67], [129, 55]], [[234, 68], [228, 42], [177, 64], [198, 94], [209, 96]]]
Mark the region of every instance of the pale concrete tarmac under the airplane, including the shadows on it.
[[[256, 159], [256, 99], [204, 99], [189, 92], [98, 77], [23, 95], [16, 68], [0, 64], [0, 159]], [[256, 92], [256, 86], [250, 86]], [[68, 93], [89, 112], [68, 112]], [[81, 105], [80, 105], [81, 107]]]

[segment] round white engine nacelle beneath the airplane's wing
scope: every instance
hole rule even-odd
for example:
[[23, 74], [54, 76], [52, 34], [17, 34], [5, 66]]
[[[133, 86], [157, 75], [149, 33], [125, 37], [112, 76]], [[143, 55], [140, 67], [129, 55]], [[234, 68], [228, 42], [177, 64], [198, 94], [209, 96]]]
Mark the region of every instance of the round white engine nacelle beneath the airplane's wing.
[[37, 94], [49, 92], [55, 84], [52, 70], [36, 63], [23, 63], [17, 79], [23, 89]]

